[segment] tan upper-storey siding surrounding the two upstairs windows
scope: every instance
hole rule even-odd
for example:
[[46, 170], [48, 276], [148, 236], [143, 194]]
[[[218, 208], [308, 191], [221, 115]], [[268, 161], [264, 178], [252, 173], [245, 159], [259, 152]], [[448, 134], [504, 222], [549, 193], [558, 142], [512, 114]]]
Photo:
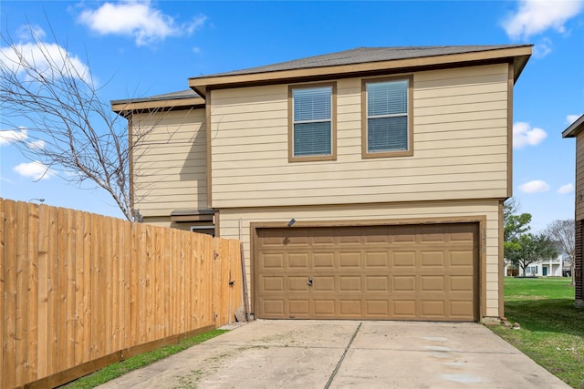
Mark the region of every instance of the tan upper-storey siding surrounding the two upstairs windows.
[[412, 157], [362, 159], [362, 78], [336, 80], [334, 161], [288, 162], [288, 85], [213, 90], [212, 205], [506, 198], [507, 70], [414, 73]]

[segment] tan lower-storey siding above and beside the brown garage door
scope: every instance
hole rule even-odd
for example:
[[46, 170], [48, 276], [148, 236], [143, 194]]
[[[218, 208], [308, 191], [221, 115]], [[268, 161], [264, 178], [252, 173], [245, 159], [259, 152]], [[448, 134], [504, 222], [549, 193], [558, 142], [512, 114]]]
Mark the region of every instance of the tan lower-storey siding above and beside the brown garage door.
[[[485, 250], [485, 263], [481, 260], [481, 280], [485, 280], [486, 316], [499, 316], [498, 282], [499, 282], [499, 202], [498, 200], [460, 200], [460, 201], [425, 201], [410, 203], [380, 203], [360, 205], [337, 205], [327, 207], [278, 207], [254, 209], [230, 209], [221, 211], [220, 236], [239, 239], [239, 220], [241, 219], [241, 240], [244, 243], [247, 280], [253, 279], [251, 268], [254, 258], [250, 252], [250, 223], [282, 222], [296, 219], [297, 223], [305, 221], [370, 221], [370, 220], [428, 220], [441, 218], [452, 220], [469, 217], [485, 218], [485, 236], [481, 231]], [[502, 261], [502, 258], [501, 258]], [[249, 287], [249, 291], [253, 288]]]

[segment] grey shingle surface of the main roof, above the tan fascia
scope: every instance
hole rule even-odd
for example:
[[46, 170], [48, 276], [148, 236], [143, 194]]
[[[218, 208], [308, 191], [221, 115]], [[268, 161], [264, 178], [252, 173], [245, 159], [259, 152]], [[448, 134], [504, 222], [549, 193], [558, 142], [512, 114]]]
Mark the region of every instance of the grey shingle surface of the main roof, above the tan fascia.
[[309, 67], [333, 67], [339, 65], [363, 64], [367, 62], [422, 58], [424, 56], [447, 56], [452, 54], [499, 50], [502, 48], [531, 46], [532, 45], [359, 47], [322, 56], [308, 56], [306, 58], [279, 62], [263, 67], [250, 67], [247, 69], [216, 73], [202, 77], [248, 75], [280, 70], [304, 69]]

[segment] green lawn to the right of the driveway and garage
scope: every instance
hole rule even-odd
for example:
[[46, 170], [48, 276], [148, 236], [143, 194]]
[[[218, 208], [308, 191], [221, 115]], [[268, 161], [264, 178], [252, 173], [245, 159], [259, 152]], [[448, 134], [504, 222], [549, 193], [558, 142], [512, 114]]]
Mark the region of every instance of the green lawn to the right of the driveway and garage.
[[574, 388], [584, 388], [584, 309], [568, 278], [505, 278], [505, 314], [520, 330], [491, 328]]

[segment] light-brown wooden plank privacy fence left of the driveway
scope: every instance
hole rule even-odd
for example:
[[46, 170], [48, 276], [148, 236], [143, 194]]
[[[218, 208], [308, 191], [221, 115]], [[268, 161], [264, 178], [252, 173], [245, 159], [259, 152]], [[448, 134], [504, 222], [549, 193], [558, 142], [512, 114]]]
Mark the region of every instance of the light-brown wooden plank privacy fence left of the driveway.
[[0, 199], [0, 386], [54, 387], [224, 325], [238, 241]]

